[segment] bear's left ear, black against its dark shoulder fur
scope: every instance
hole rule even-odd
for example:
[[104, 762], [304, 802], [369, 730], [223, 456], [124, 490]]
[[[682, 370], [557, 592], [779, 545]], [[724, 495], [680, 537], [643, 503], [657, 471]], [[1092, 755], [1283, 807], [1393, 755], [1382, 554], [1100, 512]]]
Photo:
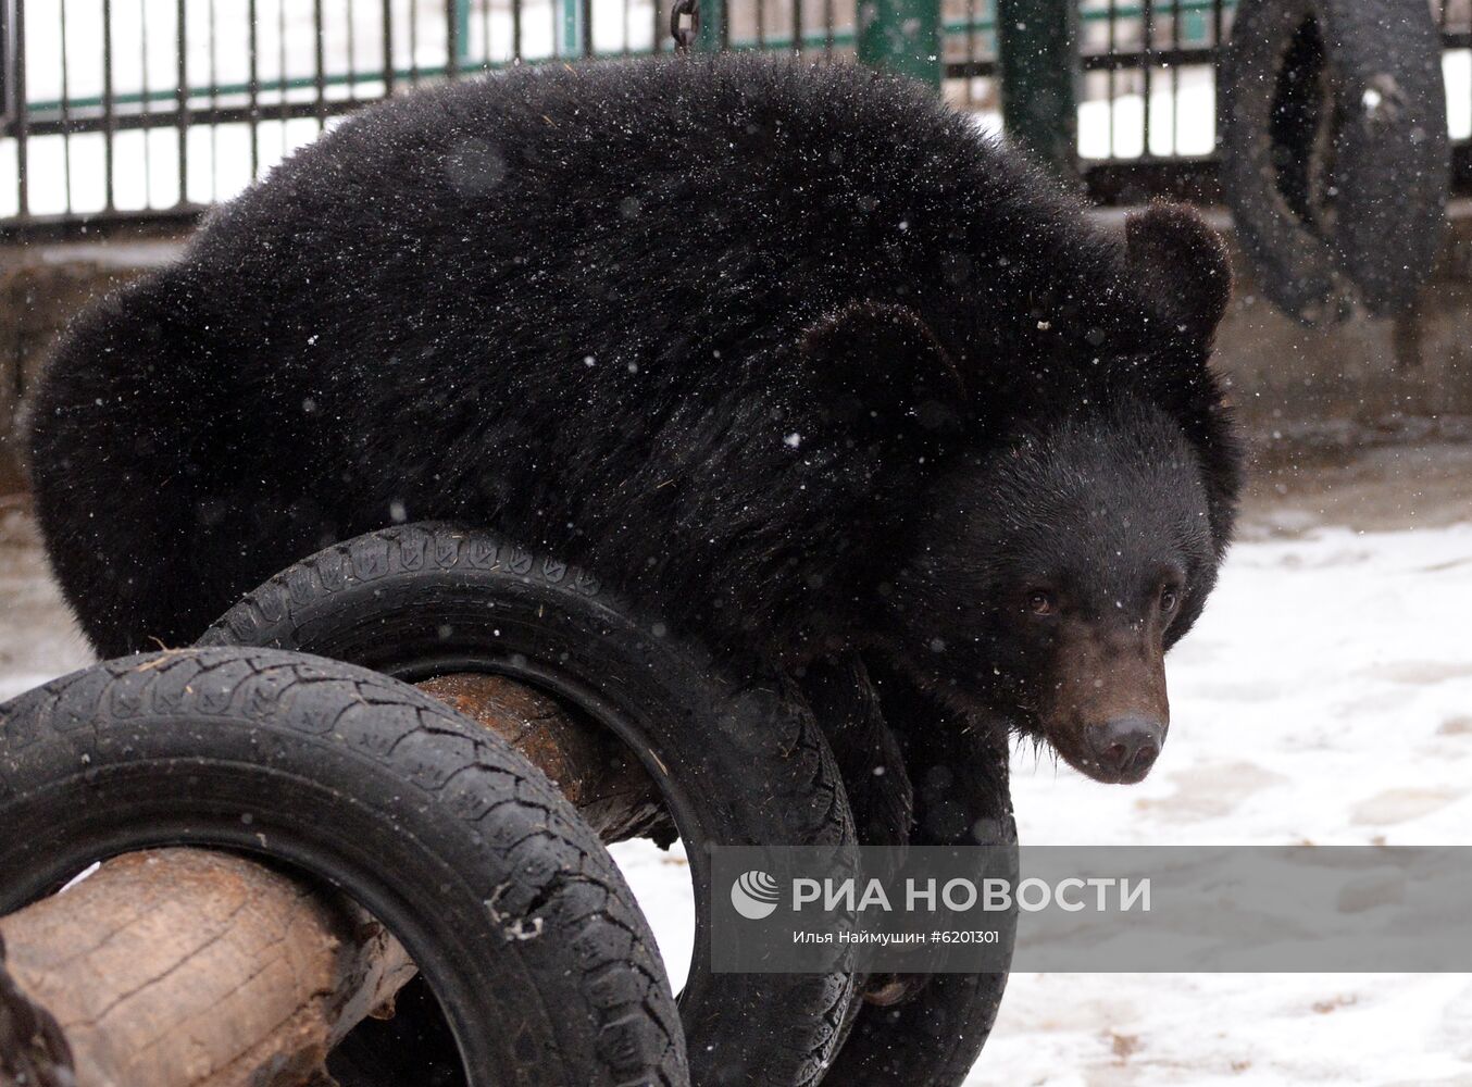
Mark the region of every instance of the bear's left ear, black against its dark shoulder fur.
[[855, 435], [919, 428], [939, 437], [961, 428], [961, 375], [907, 306], [851, 303], [808, 328], [801, 350], [826, 391], [823, 413]]

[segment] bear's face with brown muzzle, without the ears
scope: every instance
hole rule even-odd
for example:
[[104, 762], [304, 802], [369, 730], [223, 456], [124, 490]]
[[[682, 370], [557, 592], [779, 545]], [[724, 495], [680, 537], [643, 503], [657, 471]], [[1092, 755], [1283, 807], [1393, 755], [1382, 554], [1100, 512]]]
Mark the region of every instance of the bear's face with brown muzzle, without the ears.
[[1089, 777], [1139, 781], [1170, 722], [1164, 653], [1216, 581], [1200, 456], [1126, 400], [963, 457], [889, 596], [901, 657]]

